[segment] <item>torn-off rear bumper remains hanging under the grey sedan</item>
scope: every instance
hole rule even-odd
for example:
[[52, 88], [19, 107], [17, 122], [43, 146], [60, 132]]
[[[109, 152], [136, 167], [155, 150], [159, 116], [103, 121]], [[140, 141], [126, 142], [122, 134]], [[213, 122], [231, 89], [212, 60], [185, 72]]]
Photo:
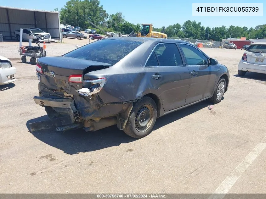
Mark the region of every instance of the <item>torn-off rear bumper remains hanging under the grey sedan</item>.
[[[98, 109], [94, 116], [82, 118], [75, 107], [74, 99], [53, 99], [35, 96], [34, 101], [43, 107], [63, 108], [68, 110], [68, 115], [41, 122], [31, 123], [31, 132], [37, 130], [55, 129], [65, 131], [85, 127], [86, 131], [96, 131], [111, 125], [117, 125], [122, 130], [128, 119], [128, 115], [133, 107], [132, 102], [126, 104], [109, 104]], [[109, 114], [108, 114], [109, 113]]]

